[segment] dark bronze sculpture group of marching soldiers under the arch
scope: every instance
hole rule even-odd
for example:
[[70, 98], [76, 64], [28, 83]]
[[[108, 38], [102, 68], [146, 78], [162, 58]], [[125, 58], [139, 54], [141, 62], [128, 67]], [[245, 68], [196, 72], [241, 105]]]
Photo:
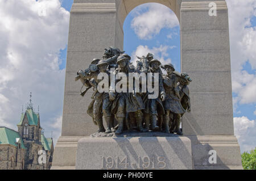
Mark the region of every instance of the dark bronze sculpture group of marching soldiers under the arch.
[[[180, 130], [181, 117], [184, 113], [190, 112], [190, 98], [188, 85], [192, 82], [187, 73], [178, 73], [172, 64], [162, 65], [154, 59], [154, 55], [137, 57], [137, 67], [131, 64], [131, 57], [115, 47], [105, 49], [102, 60], [94, 59], [89, 68], [77, 72], [76, 81], [81, 80], [82, 85], [87, 87], [81, 91], [84, 96], [86, 91], [93, 88], [92, 102], [87, 113], [98, 125], [98, 132], [121, 134], [123, 131], [137, 129], [139, 132], [163, 131], [182, 135]], [[98, 74], [110, 75], [110, 69], [114, 69], [114, 75], [123, 73], [159, 73], [158, 81], [159, 96], [155, 99], [148, 99], [146, 92], [99, 92], [97, 90]], [[167, 74], [163, 74], [162, 69]], [[127, 76], [128, 77], [128, 76]], [[118, 83], [120, 79], [115, 80]], [[154, 81], [152, 85], [154, 86]], [[110, 82], [110, 79], [109, 79]], [[109, 84], [110, 85], [110, 84]], [[129, 87], [129, 81], [127, 81]], [[107, 87], [111, 90], [110, 87]], [[82, 89], [81, 89], [82, 90]], [[102, 117], [106, 121], [104, 128]]]

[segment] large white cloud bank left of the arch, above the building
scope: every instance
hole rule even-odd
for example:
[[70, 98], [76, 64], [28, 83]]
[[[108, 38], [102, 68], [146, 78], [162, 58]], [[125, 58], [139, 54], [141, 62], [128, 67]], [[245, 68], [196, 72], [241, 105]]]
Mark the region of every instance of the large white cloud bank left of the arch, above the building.
[[69, 12], [59, 0], [8, 0], [0, 1], [0, 16], [0, 125], [16, 129], [31, 91], [51, 136], [59, 131], [52, 119], [62, 115], [65, 70], [59, 69], [59, 51], [67, 45]]

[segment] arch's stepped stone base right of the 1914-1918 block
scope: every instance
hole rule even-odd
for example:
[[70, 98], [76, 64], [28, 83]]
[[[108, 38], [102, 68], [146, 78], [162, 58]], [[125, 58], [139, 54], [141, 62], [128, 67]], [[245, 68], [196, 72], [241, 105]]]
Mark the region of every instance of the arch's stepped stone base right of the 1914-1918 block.
[[[188, 136], [192, 143], [195, 169], [242, 169], [240, 146], [235, 136]], [[210, 150], [216, 163], [210, 163]]]

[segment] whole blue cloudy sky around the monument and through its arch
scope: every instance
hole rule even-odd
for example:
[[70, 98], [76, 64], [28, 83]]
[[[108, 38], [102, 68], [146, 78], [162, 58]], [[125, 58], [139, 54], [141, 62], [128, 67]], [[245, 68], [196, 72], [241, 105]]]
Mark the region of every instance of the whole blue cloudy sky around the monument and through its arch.
[[[256, 146], [256, 0], [229, 8], [234, 132], [241, 151]], [[60, 136], [72, 0], [0, 0], [0, 126], [17, 129], [32, 92], [46, 136]], [[46, 11], [44, 11], [46, 10]], [[155, 54], [180, 71], [179, 22], [166, 6], [136, 7], [123, 25], [124, 50]]]

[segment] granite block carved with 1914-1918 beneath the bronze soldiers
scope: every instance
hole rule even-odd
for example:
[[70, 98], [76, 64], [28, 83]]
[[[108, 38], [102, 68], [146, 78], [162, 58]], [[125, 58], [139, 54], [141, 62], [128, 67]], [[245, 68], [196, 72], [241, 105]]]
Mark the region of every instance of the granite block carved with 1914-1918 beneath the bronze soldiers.
[[85, 137], [76, 169], [193, 169], [187, 137]]

